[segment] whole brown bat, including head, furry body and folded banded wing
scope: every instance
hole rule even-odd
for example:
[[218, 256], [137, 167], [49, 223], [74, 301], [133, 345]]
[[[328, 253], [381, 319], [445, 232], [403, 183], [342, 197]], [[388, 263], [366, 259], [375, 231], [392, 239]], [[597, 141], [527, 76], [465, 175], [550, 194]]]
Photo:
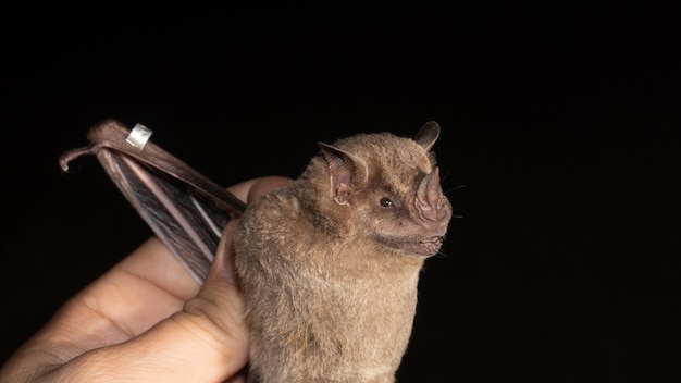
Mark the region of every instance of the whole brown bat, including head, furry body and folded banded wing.
[[[127, 135], [115, 121], [95, 126], [91, 145], [64, 153], [62, 168], [97, 153], [199, 281], [220, 228], [240, 217], [234, 244], [249, 382], [394, 382], [423, 262], [439, 251], [451, 218], [430, 151], [437, 123], [414, 139], [379, 133], [320, 143], [290, 187], [246, 207], [153, 144], [132, 149]], [[177, 221], [186, 224], [168, 223]]]

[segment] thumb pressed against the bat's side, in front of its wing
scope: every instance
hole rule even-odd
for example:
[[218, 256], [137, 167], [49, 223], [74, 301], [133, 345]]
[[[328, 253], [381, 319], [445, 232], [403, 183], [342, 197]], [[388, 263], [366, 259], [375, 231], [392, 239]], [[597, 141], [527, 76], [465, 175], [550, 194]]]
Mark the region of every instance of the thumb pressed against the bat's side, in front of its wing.
[[135, 338], [81, 355], [71, 372], [121, 382], [224, 382], [237, 374], [248, 361], [248, 331], [228, 274], [235, 224], [225, 227], [203, 286], [182, 311]]

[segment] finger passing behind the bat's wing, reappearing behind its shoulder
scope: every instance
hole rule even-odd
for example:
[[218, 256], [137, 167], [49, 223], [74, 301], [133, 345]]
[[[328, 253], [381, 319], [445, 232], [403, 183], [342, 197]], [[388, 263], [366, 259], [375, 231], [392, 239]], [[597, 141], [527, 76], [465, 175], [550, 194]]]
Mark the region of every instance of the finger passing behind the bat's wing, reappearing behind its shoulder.
[[[260, 177], [228, 189], [248, 201], [288, 182]], [[46, 348], [55, 346], [75, 355], [123, 342], [179, 311], [198, 291], [184, 265], [153, 237], [66, 302], [40, 332], [40, 341], [48, 342]]]

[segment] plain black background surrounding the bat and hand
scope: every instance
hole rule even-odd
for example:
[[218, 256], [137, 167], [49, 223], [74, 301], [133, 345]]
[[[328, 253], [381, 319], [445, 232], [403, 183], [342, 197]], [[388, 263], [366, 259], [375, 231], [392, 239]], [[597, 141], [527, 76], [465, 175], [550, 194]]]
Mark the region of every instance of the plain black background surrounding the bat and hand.
[[435, 120], [462, 218], [399, 381], [679, 380], [679, 7], [107, 7], [4, 14], [0, 361], [150, 235], [58, 166], [96, 122], [231, 185]]

